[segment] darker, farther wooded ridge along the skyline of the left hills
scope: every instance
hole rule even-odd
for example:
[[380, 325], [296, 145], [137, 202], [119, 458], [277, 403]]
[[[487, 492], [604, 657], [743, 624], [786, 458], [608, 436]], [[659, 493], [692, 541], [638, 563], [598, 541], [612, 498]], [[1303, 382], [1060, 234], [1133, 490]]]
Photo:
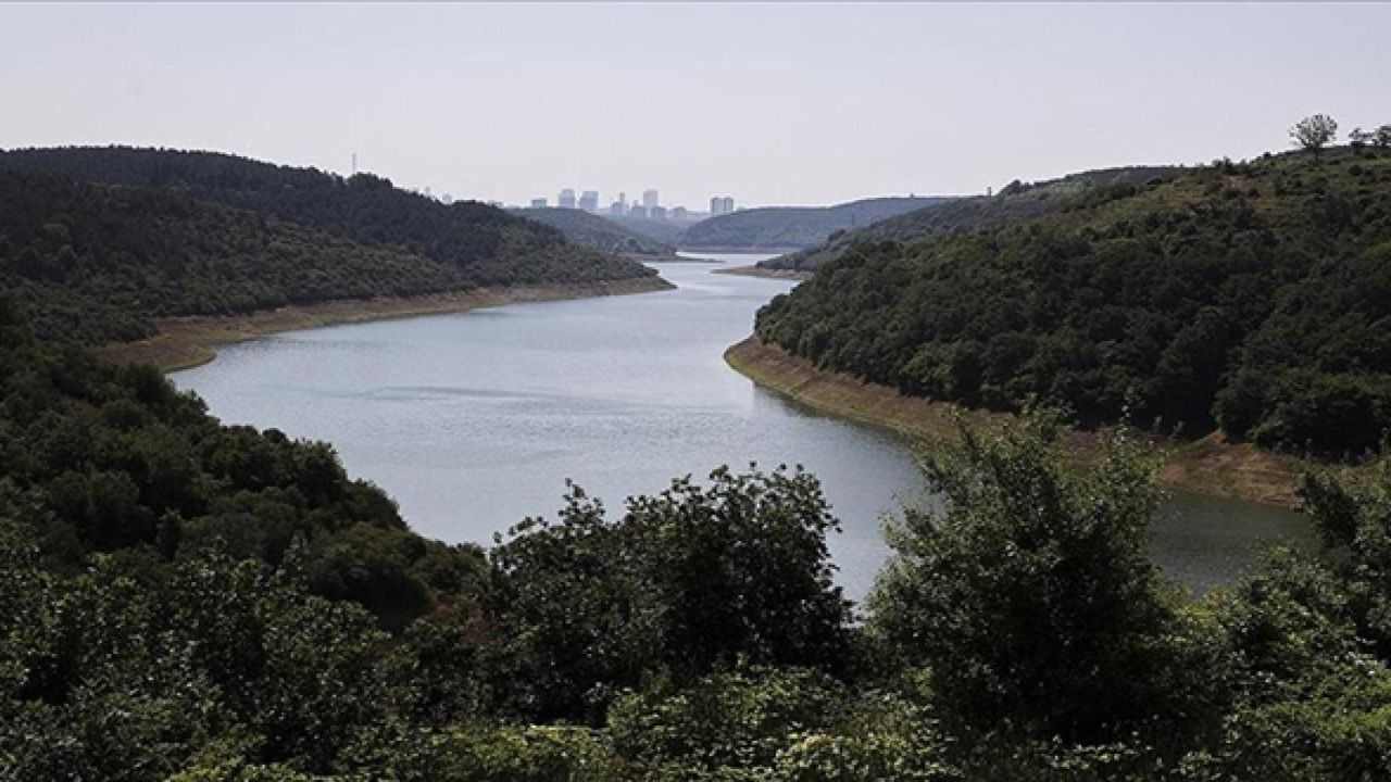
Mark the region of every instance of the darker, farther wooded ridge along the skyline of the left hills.
[[622, 280], [641, 264], [573, 245], [477, 202], [438, 203], [371, 174], [351, 178], [213, 152], [53, 147], [0, 152], [0, 168], [172, 188], [367, 245], [399, 245], [479, 285]]

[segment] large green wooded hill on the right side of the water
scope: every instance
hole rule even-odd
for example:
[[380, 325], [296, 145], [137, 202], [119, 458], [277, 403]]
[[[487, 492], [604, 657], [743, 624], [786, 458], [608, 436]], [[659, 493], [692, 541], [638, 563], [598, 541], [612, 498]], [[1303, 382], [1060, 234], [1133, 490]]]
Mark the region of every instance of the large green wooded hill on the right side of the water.
[[970, 234], [861, 244], [757, 331], [906, 394], [1376, 448], [1391, 427], [1391, 156], [1223, 163]]

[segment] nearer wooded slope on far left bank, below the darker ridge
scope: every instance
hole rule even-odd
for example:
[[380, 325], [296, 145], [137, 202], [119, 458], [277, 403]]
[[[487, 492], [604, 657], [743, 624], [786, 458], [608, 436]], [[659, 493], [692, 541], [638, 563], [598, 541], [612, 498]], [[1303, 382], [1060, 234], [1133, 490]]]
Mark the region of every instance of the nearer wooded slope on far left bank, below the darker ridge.
[[153, 319], [474, 282], [395, 245], [363, 245], [170, 188], [0, 170], [0, 282], [46, 338], [135, 340]]

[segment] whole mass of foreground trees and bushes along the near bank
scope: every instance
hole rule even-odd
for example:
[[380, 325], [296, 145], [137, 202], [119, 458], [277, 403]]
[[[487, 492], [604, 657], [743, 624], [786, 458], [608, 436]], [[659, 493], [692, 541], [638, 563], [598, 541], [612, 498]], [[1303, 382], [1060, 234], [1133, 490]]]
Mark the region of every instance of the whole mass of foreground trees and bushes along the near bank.
[[1334, 555], [1203, 601], [1155, 462], [1056, 419], [925, 455], [860, 612], [800, 470], [574, 487], [491, 550], [328, 445], [220, 424], [0, 302], [0, 778], [1289, 779], [1391, 774], [1391, 469], [1310, 477]]

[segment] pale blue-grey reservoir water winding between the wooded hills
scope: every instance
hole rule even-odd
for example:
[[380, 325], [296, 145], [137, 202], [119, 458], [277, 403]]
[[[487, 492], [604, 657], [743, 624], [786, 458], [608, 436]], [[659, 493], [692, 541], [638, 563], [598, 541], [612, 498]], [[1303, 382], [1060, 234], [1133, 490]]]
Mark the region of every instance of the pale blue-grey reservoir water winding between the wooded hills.
[[[412, 527], [452, 543], [554, 516], [566, 479], [616, 515], [676, 476], [804, 465], [842, 520], [830, 540], [840, 583], [862, 597], [887, 554], [882, 516], [924, 500], [910, 448], [725, 365], [725, 348], [791, 282], [659, 266], [676, 289], [284, 333], [171, 377], [227, 423], [332, 442]], [[1308, 544], [1305, 519], [1182, 493], [1153, 530], [1156, 561], [1195, 589], [1232, 580], [1278, 540]]]

